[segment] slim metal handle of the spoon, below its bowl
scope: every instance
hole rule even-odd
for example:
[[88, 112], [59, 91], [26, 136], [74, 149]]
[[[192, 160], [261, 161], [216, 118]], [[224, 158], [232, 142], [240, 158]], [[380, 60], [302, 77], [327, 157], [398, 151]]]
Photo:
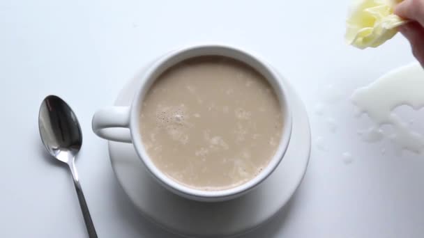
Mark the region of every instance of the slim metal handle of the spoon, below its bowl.
[[96, 229], [94, 228], [93, 221], [91, 220], [89, 207], [85, 201], [84, 193], [82, 192], [81, 184], [79, 184], [77, 169], [75, 168], [75, 164], [71, 162], [69, 164], [70, 172], [72, 173], [72, 177], [75, 184], [75, 190], [77, 191], [77, 196], [79, 200], [79, 206], [81, 207], [82, 216], [84, 216], [85, 226], [87, 228], [87, 232], [89, 232], [90, 238], [97, 238]]

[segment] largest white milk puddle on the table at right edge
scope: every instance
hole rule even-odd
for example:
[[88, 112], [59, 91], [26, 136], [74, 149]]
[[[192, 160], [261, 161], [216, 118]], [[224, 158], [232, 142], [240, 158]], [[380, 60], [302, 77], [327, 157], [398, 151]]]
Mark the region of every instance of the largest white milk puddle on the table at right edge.
[[372, 130], [382, 125], [392, 125], [391, 140], [402, 150], [424, 152], [424, 136], [409, 128], [392, 111], [402, 105], [418, 110], [424, 106], [424, 70], [421, 65], [408, 65], [384, 75], [369, 86], [359, 88], [351, 97], [361, 113], [366, 113], [375, 123]]

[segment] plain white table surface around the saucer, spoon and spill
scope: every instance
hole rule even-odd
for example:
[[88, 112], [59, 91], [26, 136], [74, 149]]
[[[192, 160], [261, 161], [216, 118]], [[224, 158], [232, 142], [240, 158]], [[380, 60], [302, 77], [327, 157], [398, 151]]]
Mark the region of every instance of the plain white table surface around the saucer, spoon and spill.
[[[49, 94], [63, 97], [82, 123], [77, 168], [99, 237], [174, 237], [129, 203], [106, 141], [91, 132], [91, 116], [112, 105], [142, 65], [197, 42], [225, 42], [266, 58], [298, 90], [311, 120], [303, 184], [278, 217], [245, 237], [423, 237], [423, 158], [400, 156], [386, 140], [361, 141], [357, 131], [372, 124], [355, 118], [349, 102], [355, 88], [413, 57], [401, 35], [378, 49], [347, 47], [348, 3], [1, 0], [0, 237], [86, 236], [70, 174], [40, 143], [38, 107]], [[342, 97], [321, 116], [315, 107], [329, 84]], [[416, 125], [424, 132], [424, 122]]]

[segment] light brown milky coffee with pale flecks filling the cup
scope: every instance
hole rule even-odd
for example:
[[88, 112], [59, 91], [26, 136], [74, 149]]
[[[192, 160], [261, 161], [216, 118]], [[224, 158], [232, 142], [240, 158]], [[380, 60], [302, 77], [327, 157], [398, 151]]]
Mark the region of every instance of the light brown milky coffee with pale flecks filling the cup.
[[144, 98], [140, 130], [153, 164], [205, 191], [252, 180], [273, 158], [282, 110], [268, 81], [239, 61], [202, 56], [162, 73]]

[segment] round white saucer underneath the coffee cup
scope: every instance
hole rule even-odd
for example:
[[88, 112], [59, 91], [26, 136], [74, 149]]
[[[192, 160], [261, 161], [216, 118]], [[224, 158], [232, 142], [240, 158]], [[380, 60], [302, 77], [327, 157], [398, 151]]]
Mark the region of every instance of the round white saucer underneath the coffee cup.
[[[129, 105], [139, 81], [139, 77], [135, 77], [126, 84], [115, 105]], [[153, 180], [131, 144], [109, 141], [112, 168], [135, 207], [162, 228], [188, 237], [238, 235], [271, 219], [301, 184], [310, 157], [308, 114], [293, 88], [286, 85], [293, 111], [293, 131], [287, 153], [266, 181], [236, 200], [200, 203], [176, 196]]]

